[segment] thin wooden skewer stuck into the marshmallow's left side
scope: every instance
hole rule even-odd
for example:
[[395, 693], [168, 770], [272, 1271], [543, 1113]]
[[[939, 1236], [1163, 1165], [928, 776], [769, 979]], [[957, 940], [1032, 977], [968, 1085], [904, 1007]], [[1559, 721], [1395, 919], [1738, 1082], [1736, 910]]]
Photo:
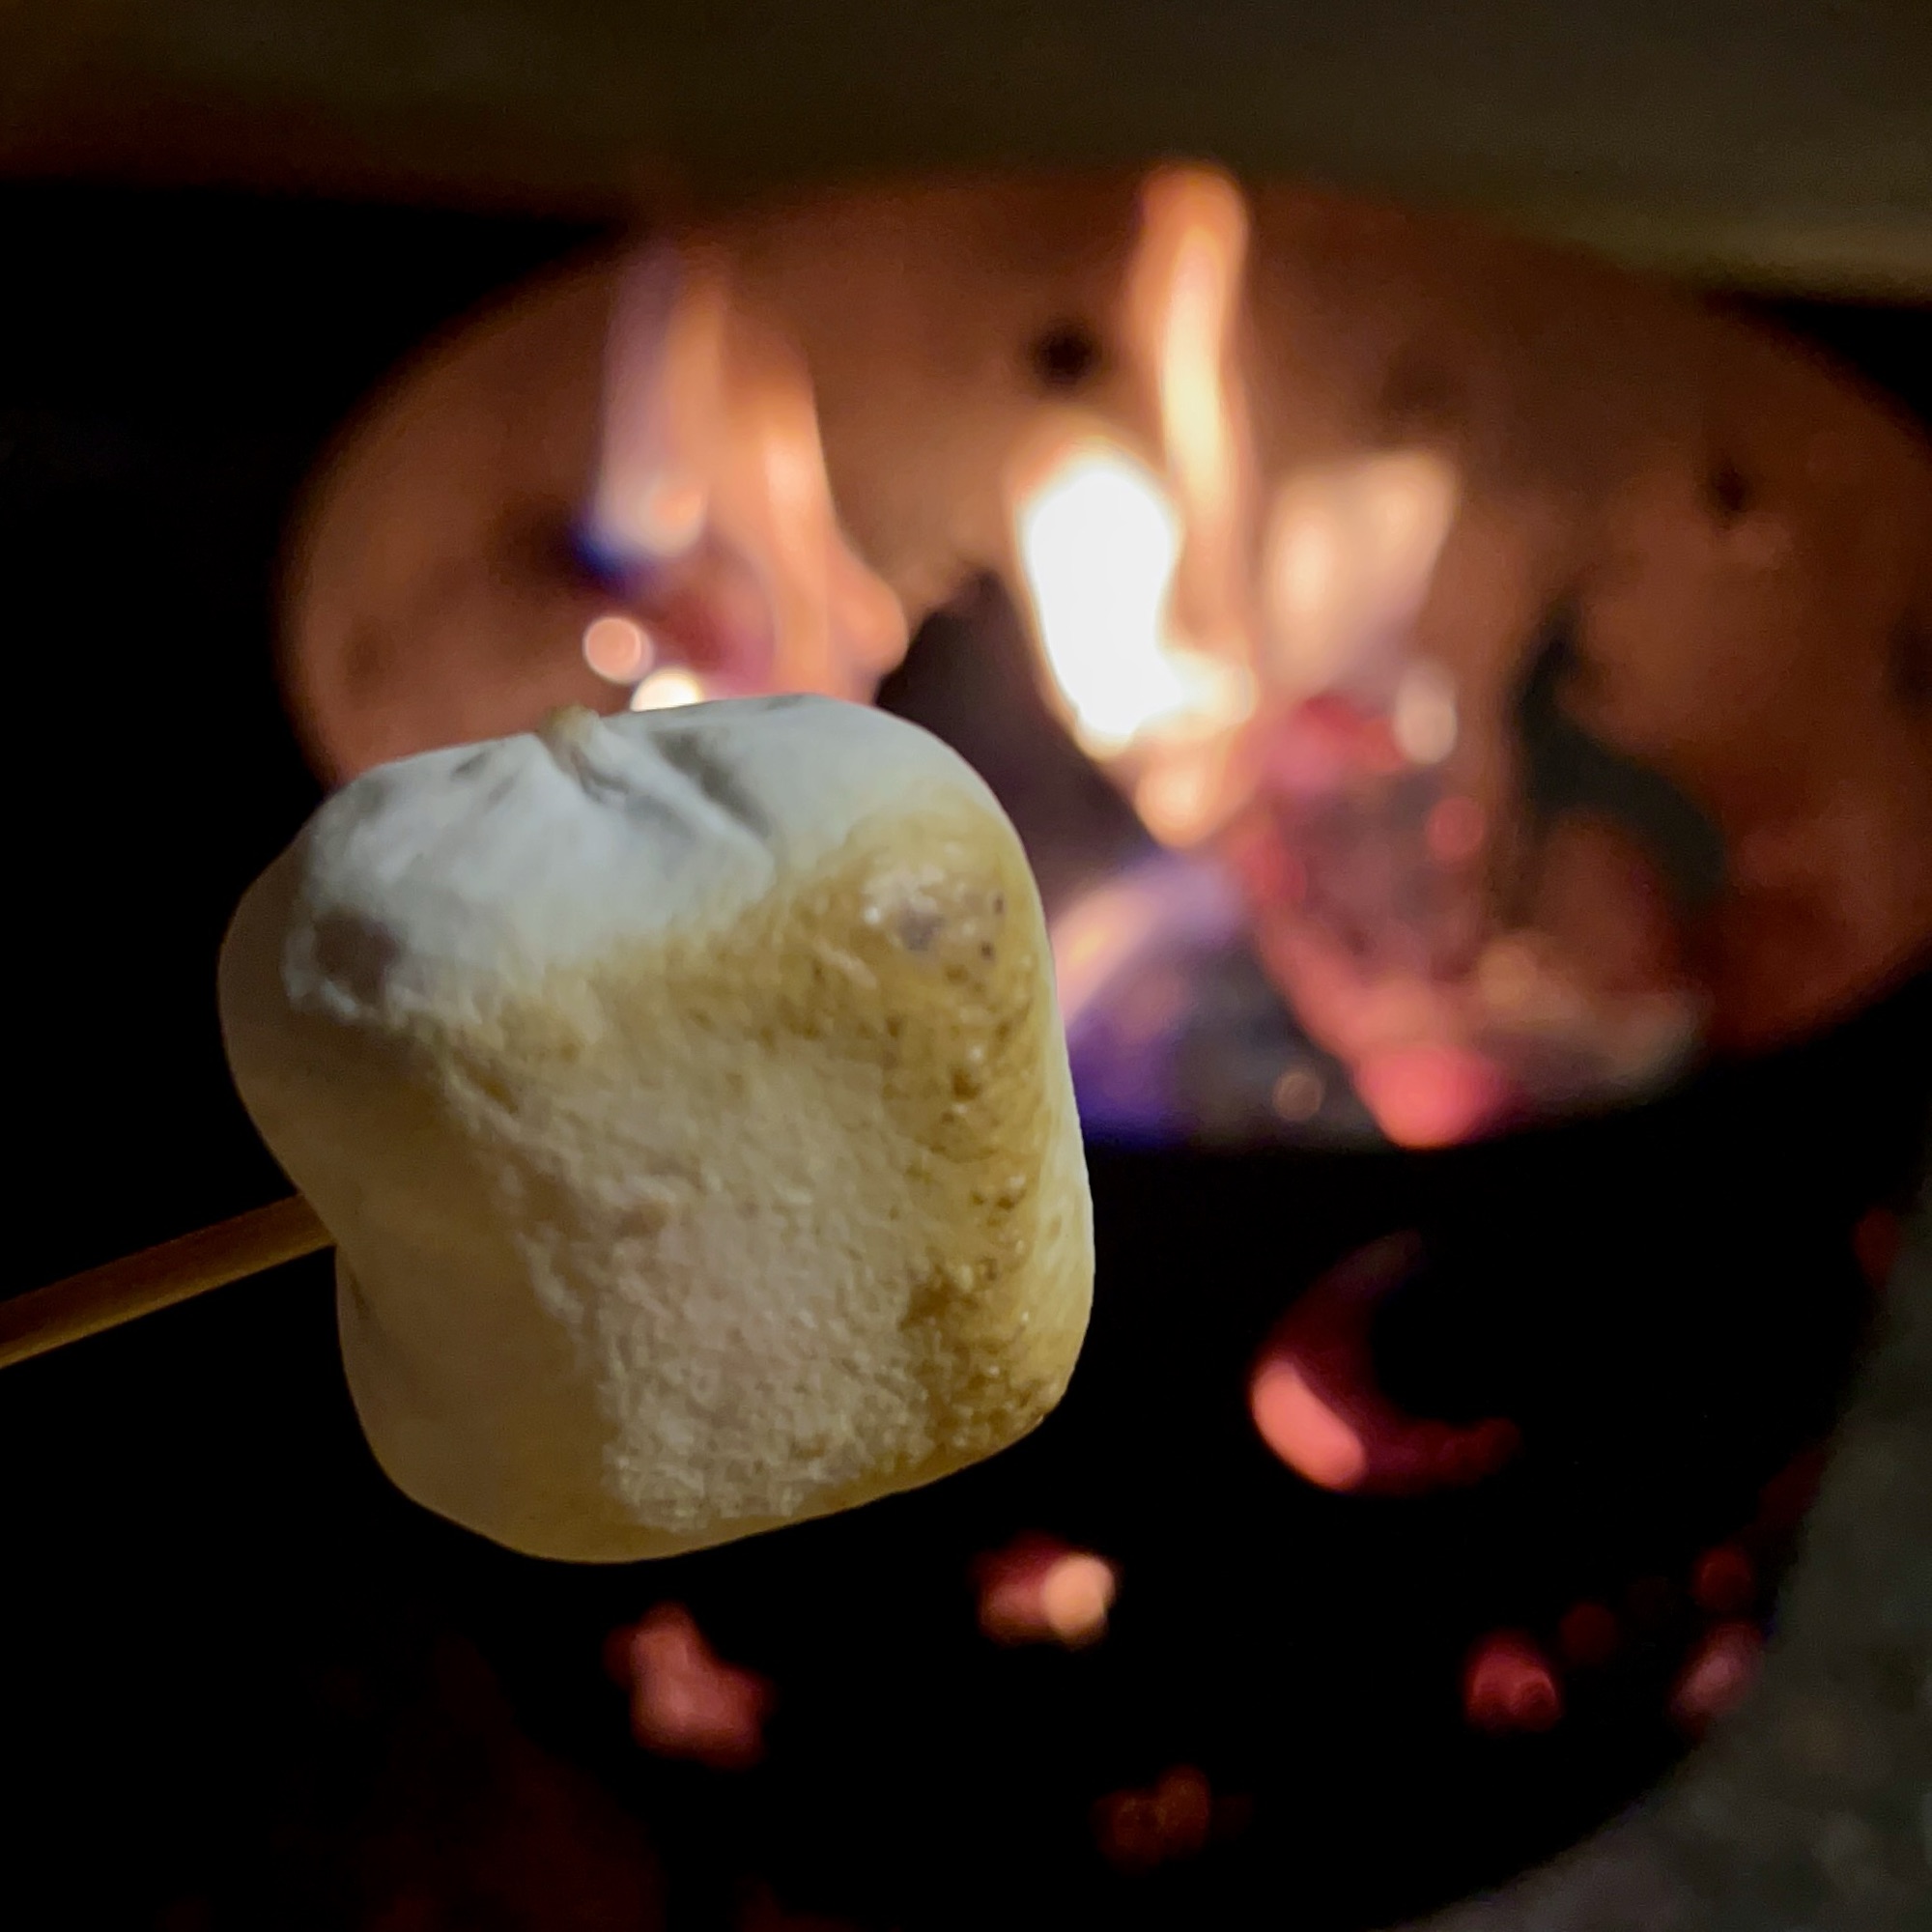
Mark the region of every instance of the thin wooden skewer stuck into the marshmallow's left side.
[[102, 1329], [120, 1327], [191, 1294], [327, 1248], [336, 1236], [299, 1196], [251, 1208], [232, 1221], [164, 1240], [158, 1248], [89, 1267], [0, 1302], [0, 1368], [27, 1362]]

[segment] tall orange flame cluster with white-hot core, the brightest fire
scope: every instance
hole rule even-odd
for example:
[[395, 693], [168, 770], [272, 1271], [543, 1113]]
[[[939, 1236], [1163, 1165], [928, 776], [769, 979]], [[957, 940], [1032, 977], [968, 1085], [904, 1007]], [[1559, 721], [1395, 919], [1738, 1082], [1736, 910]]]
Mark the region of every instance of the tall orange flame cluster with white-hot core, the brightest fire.
[[[1165, 844], [1206, 838], [1240, 804], [1264, 680], [1294, 699], [1399, 647], [1457, 504], [1455, 471], [1428, 452], [1314, 469], [1277, 491], [1258, 566], [1246, 263], [1231, 180], [1151, 176], [1122, 336], [1155, 454], [1065, 413], [1009, 485], [1051, 696]], [[1439, 763], [1457, 738], [1447, 674], [1381, 668], [1401, 753]]]

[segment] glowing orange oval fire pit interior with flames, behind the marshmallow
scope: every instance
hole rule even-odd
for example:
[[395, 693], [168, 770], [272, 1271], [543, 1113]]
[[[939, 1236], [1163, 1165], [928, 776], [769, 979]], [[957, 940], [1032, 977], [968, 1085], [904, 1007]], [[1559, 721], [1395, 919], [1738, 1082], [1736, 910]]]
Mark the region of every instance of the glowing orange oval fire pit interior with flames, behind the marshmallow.
[[[410, 458], [365, 439], [311, 520], [323, 761], [597, 692], [866, 701], [993, 572], [1159, 854], [1049, 906], [1090, 1132], [1455, 1144], [1814, 1026], [1932, 933], [1878, 661], [1922, 612], [1878, 611], [1889, 564], [1828, 609], [1932, 471], [1689, 303], [1180, 166], [661, 236], [475, 336]], [[1712, 440], [1748, 440], [1739, 394], [1762, 487]], [[371, 568], [384, 493], [450, 495], [460, 454], [541, 469], [568, 543], [506, 560], [452, 502]]]

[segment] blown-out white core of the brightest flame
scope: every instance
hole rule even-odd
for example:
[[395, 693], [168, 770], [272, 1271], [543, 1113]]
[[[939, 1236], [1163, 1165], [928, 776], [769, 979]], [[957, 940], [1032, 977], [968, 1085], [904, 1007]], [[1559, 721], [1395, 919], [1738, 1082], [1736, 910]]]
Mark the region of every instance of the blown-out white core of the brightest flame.
[[1080, 442], [1018, 526], [1039, 641], [1088, 752], [1111, 757], [1144, 734], [1206, 734], [1246, 713], [1238, 668], [1165, 634], [1180, 526], [1142, 464]]

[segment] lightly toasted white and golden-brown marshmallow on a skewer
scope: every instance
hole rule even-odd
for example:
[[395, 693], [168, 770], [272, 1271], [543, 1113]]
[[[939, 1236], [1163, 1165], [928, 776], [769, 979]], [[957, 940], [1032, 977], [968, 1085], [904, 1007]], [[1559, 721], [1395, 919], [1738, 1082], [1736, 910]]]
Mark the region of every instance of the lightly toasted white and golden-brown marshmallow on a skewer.
[[628, 1561], [1014, 1441], [1092, 1208], [1039, 898], [879, 711], [761, 697], [355, 779], [222, 949], [242, 1097], [338, 1242], [415, 1501]]

